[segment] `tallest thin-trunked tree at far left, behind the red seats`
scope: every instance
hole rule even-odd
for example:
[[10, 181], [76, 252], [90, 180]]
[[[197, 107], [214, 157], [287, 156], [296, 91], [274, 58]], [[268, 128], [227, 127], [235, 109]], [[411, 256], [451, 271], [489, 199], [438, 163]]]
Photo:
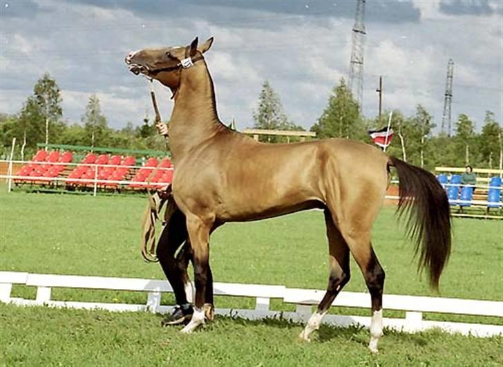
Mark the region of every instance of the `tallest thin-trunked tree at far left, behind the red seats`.
[[[39, 106], [39, 113], [44, 119], [46, 144], [49, 143], [51, 125], [56, 125], [63, 115], [61, 109], [61, 95], [55, 79], [45, 73], [33, 88], [34, 98]], [[47, 149], [47, 147], [46, 147]]]

